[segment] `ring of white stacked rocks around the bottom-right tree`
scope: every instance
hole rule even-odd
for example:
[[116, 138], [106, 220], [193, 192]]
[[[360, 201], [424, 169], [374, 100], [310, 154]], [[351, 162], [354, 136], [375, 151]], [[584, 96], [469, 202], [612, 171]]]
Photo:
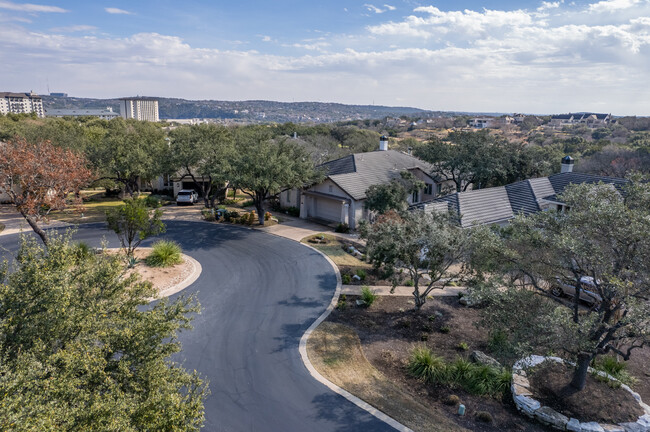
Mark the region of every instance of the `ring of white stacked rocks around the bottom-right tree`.
[[[550, 407], [542, 406], [539, 401], [533, 399], [533, 393], [530, 390], [530, 381], [526, 375], [526, 370], [535, 367], [547, 360], [556, 363], [568, 363], [559, 357], [544, 357], [532, 355], [519, 360], [512, 367], [512, 383], [510, 391], [517, 409], [524, 415], [539, 421], [540, 423], [551, 426], [554, 429], [573, 432], [650, 432], [650, 406], [643, 403], [641, 396], [634, 392], [630, 387], [621, 384], [621, 388], [630, 392], [634, 399], [643, 408], [644, 415], [639, 417], [636, 422], [603, 424], [597, 422], [580, 422], [574, 418], [568, 418]], [[596, 373], [610, 380], [618, 381], [613, 376], [589, 368], [590, 373]]]

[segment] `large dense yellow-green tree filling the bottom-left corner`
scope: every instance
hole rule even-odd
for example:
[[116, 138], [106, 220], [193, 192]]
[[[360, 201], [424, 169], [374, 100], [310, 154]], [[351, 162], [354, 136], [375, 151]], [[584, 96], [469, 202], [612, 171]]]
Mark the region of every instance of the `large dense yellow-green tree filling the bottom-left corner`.
[[154, 295], [117, 257], [24, 239], [0, 275], [0, 429], [198, 431], [207, 385], [169, 356], [199, 307]]

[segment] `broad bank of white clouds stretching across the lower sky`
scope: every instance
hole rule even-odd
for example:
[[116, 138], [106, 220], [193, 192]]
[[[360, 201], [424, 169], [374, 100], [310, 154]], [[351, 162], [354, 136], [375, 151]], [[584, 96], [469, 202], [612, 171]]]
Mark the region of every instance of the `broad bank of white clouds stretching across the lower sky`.
[[[274, 40], [259, 34], [249, 45], [258, 51], [197, 48], [157, 33], [113, 38], [8, 24], [0, 26], [0, 58], [12, 62], [0, 68], [0, 82], [39, 91], [47, 68], [62, 91], [88, 97], [375, 100], [459, 111], [650, 114], [650, 87], [639, 84], [650, 70], [650, 13], [596, 15], [589, 6], [563, 3], [553, 10], [558, 13], [426, 6], [356, 34], [283, 45], [264, 44]], [[276, 48], [289, 54], [269, 54]]]

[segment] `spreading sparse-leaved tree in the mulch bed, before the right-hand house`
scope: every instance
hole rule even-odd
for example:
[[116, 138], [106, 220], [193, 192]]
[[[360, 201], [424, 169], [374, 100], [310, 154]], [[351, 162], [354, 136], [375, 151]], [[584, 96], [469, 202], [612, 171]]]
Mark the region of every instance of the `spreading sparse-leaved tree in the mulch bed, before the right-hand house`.
[[[366, 240], [366, 256], [376, 269], [395, 276], [404, 267], [413, 280], [415, 307], [420, 309], [434, 289], [443, 289], [458, 276], [454, 264], [466, 252], [467, 232], [456, 218], [444, 213], [389, 211], [374, 224], [363, 222], [361, 238]], [[428, 275], [428, 279], [423, 278]], [[420, 289], [420, 279], [425, 286]], [[397, 279], [393, 278], [393, 288]]]

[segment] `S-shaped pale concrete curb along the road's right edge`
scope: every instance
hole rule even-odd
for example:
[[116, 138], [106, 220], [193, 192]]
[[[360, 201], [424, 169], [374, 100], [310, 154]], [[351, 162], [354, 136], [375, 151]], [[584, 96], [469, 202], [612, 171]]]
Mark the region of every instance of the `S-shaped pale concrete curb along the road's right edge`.
[[[280, 236], [278, 236], [278, 237], [280, 237]], [[283, 237], [283, 238], [286, 238], [286, 237]], [[341, 273], [339, 272], [339, 269], [336, 266], [336, 264], [334, 264], [334, 261], [332, 261], [330, 259], [330, 257], [328, 257], [327, 255], [325, 255], [324, 253], [322, 253], [321, 251], [319, 251], [316, 248], [313, 248], [313, 247], [311, 247], [309, 245], [306, 245], [306, 244], [304, 244], [302, 242], [298, 242], [298, 243], [302, 244], [303, 246], [308, 247], [309, 249], [312, 249], [312, 250], [318, 252], [321, 256], [323, 256], [327, 260], [327, 262], [329, 262], [330, 266], [332, 266], [332, 268], [334, 269], [334, 272], [336, 273], [336, 291], [334, 292], [334, 296], [332, 297], [332, 301], [330, 302], [330, 304], [327, 307], [327, 309], [325, 310], [325, 312], [323, 312], [321, 314], [321, 316], [319, 316], [316, 319], [316, 321], [314, 321], [312, 323], [312, 325], [309, 326], [309, 328], [307, 329], [305, 334], [303, 334], [302, 337], [300, 338], [300, 346], [299, 346], [298, 351], [300, 352], [300, 357], [302, 357], [302, 362], [305, 364], [305, 367], [307, 368], [307, 370], [309, 371], [311, 376], [316, 381], [318, 381], [321, 384], [325, 385], [327, 388], [329, 388], [333, 392], [343, 396], [344, 398], [346, 398], [347, 400], [349, 400], [350, 402], [352, 402], [353, 404], [355, 404], [356, 406], [358, 406], [362, 410], [367, 411], [368, 413], [370, 413], [373, 416], [377, 417], [379, 420], [389, 424], [390, 426], [392, 426], [393, 428], [395, 428], [398, 431], [401, 431], [401, 432], [413, 432], [411, 429], [404, 426], [403, 424], [401, 424], [397, 420], [393, 419], [392, 417], [389, 417], [387, 414], [379, 411], [377, 408], [373, 407], [369, 403], [364, 402], [363, 400], [359, 399], [358, 397], [356, 397], [352, 393], [348, 392], [347, 390], [342, 389], [341, 387], [337, 386], [333, 382], [329, 381], [327, 378], [322, 376], [316, 370], [314, 365], [311, 364], [311, 361], [309, 361], [309, 356], [307, 355], [307, 340], [309, 339], [309, 336], [311, 336], [312, 332], [316, 329], [316, 327], [318, 327], [320, 325], [320, 323], [325, 321], [325, 319], [329, 316], [330, 313], [332, 313], [332, 311], [336, 307], [336, 304], [337, 304], [338, 299], [339, 299], [339, 295], [341, 294], [341, 286], [342, 286], [342, 284], [341, 284]]]

